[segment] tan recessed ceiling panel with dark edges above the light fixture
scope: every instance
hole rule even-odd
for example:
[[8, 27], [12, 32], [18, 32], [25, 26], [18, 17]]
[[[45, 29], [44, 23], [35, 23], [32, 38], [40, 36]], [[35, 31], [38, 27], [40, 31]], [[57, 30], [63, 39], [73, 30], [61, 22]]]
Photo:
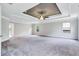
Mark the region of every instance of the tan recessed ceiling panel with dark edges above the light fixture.
[[26, 10], [23, 13], [39, 19], [41, 16], [43, 16], [44, 18], [47, 18], [48, 16], [61, 14], [56, 3], [40, 3], [33, 8]]

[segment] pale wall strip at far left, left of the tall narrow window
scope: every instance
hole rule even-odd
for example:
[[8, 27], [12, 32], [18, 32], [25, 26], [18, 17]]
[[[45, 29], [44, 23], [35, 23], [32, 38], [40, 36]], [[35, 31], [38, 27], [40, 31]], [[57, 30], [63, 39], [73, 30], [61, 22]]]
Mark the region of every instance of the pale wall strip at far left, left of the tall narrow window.
[[2, 41], [6, 40], [9, 38], [9, 21], [6, 19], [2, 18], [2, 22], [1, 22], [1, 29], [2, 29]]

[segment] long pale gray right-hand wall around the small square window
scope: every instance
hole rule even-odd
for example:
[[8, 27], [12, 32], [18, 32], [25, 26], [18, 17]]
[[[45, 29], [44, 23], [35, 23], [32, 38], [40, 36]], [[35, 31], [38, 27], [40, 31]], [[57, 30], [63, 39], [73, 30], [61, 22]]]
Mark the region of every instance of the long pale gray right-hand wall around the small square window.
[[[62, 23], [63, 22], [70, 22], [71, 23], [71, 32], [63, 32], [62, 31]], [[72, 19], [64, 19], [52, 23], [47, 24], [38, 24], [39, 26], [39, 32], [36, 32], [36, 26], [32, 26], [32, 33], [36, 35], [48, 35], [53, 37], [63, 37], [63, 38], [72, 38], [77, 39], [77, 20], [76, 18]]]

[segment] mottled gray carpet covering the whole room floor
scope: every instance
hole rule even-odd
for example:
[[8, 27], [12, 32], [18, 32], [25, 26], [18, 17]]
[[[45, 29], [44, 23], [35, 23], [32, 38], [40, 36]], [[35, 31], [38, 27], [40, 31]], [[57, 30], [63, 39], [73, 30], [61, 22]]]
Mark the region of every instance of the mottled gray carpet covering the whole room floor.
[[2, 56], [79, 56], [79, 41], [63, 38], [21, 36], [2, 43]]

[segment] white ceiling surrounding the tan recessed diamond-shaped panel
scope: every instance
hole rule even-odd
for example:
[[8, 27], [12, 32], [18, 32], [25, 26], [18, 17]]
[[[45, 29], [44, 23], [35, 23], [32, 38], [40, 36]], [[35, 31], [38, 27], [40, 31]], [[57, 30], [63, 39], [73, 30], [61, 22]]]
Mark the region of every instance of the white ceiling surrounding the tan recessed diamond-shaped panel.
[[[22, 13], [25, 10], [28, 10], [33, 6], [36, 6], [37, 4], [39, 3], [13, 3], [13, 4], [2, 3], [0, 5], [2, 7], [2, 16], [9, 18], [9, 20], [11, 21], [18, 23], [37, 23], [38, 22], [37, 18]], [[62, 12], [62, 17], [63, 15], [68, 16], [72, 14], [76, 15], [79, 14], [79, 4], [57, 3], [57, 6]], [[51, 16], [49, 19], [51, 18], [53, 18], [53, 16]]]

